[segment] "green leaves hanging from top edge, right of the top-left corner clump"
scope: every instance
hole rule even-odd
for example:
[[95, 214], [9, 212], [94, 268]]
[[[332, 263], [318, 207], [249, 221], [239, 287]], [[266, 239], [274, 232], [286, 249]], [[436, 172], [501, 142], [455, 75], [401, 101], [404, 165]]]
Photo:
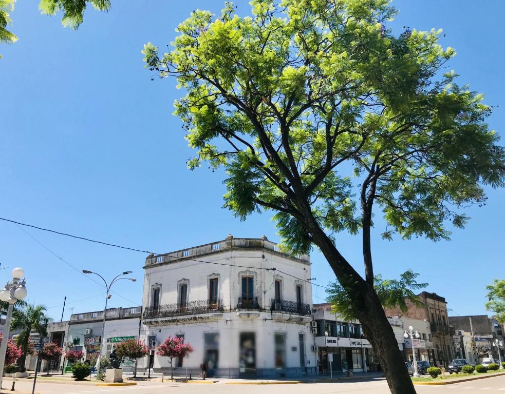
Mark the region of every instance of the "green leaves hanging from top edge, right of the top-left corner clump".
[[39, 10], [46, 15], [56, 15], [58, 11], [62, 11], [62, 25], [77, 30], [88, 4], [99, 11], [110, 9], [110, 0], [41, 0]]

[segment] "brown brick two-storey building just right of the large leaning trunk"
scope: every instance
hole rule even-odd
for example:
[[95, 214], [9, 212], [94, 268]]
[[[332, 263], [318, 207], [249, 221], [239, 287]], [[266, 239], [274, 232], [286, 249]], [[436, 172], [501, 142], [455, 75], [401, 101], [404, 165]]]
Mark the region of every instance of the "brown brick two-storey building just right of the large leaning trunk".
[[447, 302], [436, 293], [423, 291], [418, 294], [421, 306], [406, 300], [407, 312], [400, 308], [387, 308], [386, 316], [405, 316], [410, 319], [426, 320], [432, 333], [433, 348], [429, 349], [429, 362], [436, 366], [447, 366], [454, 358], [454, 327], [449, 325], [447, 316]]

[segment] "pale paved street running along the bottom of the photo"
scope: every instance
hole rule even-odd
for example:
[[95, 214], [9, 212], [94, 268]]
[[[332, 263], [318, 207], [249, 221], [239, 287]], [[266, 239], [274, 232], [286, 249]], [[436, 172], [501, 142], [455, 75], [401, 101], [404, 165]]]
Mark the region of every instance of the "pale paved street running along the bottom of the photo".
[[[16, 389], [20, 391], [31, 392], [30, 381], [18, 381]], [[4, 383], [4, 387], [10, 387], [10, 381]], [[332, 394], [332, 393], [368, 393], [387, 394], [389, 393], [386, 381], [379, 379], [371, 382], [346, 382], [346, 383], [317, 383], [317, 384], [286, 384], [286, 385], [231, 385], [231, 384], [186, 384], [186, 383], [149, 383], [139, 382], [137, 386], [125, 387], [97, 387], [91, 385], [77, 384], [55, 384], [41, 382], [37, 384], [37, 392], [41, 394], [103, 394], [125, 393], [125, 394], [158, 394], [158, 393], [181, 393], [197, 394], [202, 390], [208, 393], [236, 393], [240, 394], [306, 394], [308, 389], [311, 394]], [[505, 393], [505, 376], [474, 380], [465, 383], [456, 383], [443, 386], [416, 386], [418, 394], [436, 394], [436, 393], [457, 393], [460, 392], [486, 392], [486, 393]], [[3, 392], [8, 392], [3, 390]]]

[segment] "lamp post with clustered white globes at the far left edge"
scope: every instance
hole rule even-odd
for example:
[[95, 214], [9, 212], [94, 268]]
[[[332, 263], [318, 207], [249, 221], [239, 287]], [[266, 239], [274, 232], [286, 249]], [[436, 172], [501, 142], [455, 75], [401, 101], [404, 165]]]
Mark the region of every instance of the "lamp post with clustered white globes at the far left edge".
[[10, 321], [12, 318], [12, 309], [17, 300], [23, 300], [26, 297], [27, 291], [25, 287], [25, 271], [23, 268], [14, 268], [12, 270], [12, 282], [7, 282], [2, 291], [0, 291], [0, 300], [7, 302], [7, 316], [5, 319], [5, 327], [0, 344], [0, 388], [2, 387], [2, 377], [5, 364], [5, 352], [7, 351], [7, 341], [9, 339]]

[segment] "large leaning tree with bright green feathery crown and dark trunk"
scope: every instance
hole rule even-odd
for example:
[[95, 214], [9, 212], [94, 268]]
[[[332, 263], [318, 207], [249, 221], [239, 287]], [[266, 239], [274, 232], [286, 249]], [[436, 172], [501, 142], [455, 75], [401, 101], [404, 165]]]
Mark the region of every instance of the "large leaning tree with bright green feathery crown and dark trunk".
[[[447, 71], [439, 31], [387, 27], [387, 0], [253, 0], [196, 10], [170, 52], [148, 43], [146, 67], [175, 75], [188, 163], [225, 167], [225, 207], [241, 220], [270, 210], [295, 252], [319, 247], [384, 368], [391, 392], [415, 392], [374, 289], [373, 212], [383, 237], [448, 239], [461, 208], [505, 178], [491, 108]], [[374, 210], [375, 209], [375, 210]], [[365, 275], [338, 233], [361, 233]], [[352, 263], [352, 264], [351, 264]]]

